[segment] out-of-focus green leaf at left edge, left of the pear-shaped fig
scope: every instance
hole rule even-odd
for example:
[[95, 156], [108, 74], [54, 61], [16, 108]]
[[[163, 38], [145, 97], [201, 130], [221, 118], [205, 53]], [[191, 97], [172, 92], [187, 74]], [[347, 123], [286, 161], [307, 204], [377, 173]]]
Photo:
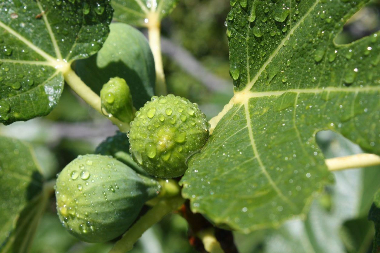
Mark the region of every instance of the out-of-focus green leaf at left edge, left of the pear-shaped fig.
[[43, 177], [32, 148], [19, 140], [0, 137], [1, 251], [22, 252], [28, 248], [28, 243], [20, 244], [19, 239], [33, 238], [35, 222], [43, 208], [42, 185]]

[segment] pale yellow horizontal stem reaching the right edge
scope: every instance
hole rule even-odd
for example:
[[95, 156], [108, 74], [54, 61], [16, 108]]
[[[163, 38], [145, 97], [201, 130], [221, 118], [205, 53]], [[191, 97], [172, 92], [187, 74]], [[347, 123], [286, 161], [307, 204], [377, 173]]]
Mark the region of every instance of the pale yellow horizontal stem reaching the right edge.
[[330, 171], [362, 168], [380, 165], [380, 156], [375, 154], [355, 154], [352, 156], [326, 159], [325, 163]]

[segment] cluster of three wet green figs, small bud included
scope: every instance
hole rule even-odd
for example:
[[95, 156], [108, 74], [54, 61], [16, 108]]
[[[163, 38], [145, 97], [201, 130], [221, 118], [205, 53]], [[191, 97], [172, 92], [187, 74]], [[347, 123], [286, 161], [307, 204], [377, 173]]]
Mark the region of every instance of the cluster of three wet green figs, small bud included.
[[[130, 91], [123, 79], [103, 86], [102, 107], [132, 120]], [[160, 197], [160, 178], [175, 178], [209, 137], [206, 116], [183, 97], [152, 97], [130, 123], [129, 152], [144, 170], [101, 154], [78, 156], [60, 172], [55, 185], [57, 212], [67, 230], [85, 242], [114, 239], [138, 218], [146, 201]], [[128, 152], [128, 150], [127, 150]], [[136, 167], [138, 167], [136, 166]]]

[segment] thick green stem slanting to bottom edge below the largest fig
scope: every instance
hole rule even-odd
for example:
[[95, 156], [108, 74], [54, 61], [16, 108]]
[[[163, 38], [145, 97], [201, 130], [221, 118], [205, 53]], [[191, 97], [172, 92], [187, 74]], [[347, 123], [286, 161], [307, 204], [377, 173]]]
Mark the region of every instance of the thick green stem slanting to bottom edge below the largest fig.
[[162, 199], [123, 234], [122, 238], [116, 242], [109, 253], [130, 251], [135, 242], [148, 228], [159, 222], [166, 214], [178, 209], [184, 202], [185, 200], [181, 196]]

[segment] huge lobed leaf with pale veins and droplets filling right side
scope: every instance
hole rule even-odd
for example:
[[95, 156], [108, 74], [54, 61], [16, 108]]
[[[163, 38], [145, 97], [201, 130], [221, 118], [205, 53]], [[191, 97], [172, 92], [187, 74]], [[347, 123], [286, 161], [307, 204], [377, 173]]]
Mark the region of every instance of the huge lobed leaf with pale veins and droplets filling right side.
[[231, 1], [235, 94], [182, 178], [192, 211], [244, 232], [278, 226], [331, 182], [316, 132], [380, 152], [380, 36], [334, 43], [365, 2]]

